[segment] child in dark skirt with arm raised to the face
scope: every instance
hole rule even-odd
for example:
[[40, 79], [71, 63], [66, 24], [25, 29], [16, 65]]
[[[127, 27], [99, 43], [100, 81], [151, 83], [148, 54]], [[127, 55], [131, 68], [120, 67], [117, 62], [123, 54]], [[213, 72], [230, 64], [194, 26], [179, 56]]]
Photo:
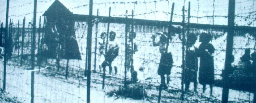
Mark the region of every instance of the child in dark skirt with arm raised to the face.
[[[156, 36], [159, 36], [159, 35], [160, 35], [160, 39], [159, 41], [156, 41]], [[173, 64], [171, 52], [166, 52], [166, 44], [167, 42], [169, 42], [168, 36], [166, 32], [163, 32], [163, 33], [157, 32], [156, 35], [152, 36], [152, 39], [153, 39], [153, 46], [154, 47], [159, 46], [159, 51], [161, 53], [161, 59], [158, 66], [158, 75], [160, 75], [161, 77], [160, 87], [163, 87], [166, 89], [168, 87], [166, 86], [165, 75], [167, 77], [167, 84], [168, 84], [170, 81], [169, 75], [171, 74], [171, 68]]]

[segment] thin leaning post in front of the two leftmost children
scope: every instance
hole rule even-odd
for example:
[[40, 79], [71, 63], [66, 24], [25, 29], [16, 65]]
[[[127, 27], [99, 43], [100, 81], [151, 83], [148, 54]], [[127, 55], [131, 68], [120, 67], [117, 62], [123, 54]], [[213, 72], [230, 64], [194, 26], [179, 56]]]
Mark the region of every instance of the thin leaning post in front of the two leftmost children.
[[[106, 48], [105, 52], [107, 54], [107, 44], [108, 44], [108, 34], [109, 34], [109, 24], [110, 24], [110, 13], [111, 13], [111, 7], [109, 7], [109, 13], [108, 13], [108, 23], [107, 23], [107, 41], [106, 41]], [[106, 67], [103, 67], [103, 81], [102, 81], [102, 89], [104, 89], [105, 85], [105, 75], [106, 75]]]

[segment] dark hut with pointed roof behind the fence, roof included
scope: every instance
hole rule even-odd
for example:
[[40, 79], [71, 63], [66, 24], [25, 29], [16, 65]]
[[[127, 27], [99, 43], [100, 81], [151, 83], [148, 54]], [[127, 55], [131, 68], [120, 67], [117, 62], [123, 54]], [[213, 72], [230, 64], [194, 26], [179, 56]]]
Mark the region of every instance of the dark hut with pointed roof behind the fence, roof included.
[[43, 16], [46, 16], [47, 22], [42, 44], [47, 46], [47, 58], [57, 57], [58, 43], [60, 43], [61, 59], [81, 59], [74, 30], [73, 13], [59, 0], [55, 0]]

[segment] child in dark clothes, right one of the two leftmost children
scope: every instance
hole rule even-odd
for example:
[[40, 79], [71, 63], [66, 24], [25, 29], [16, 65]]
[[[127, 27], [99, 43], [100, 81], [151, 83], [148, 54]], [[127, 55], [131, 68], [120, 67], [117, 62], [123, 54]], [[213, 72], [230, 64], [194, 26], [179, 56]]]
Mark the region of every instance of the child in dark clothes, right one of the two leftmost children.
[[[112, 73], [112, 62], [117, 57], [119, 52], [119, 47], [115, 40], [115, 32], [111, 31], [109, 33], [109, 43], [108, 43], [108, 51], [104, 55], [105, 61], [102, 63], [103, 70], [106, 70], [105, 68], [109, 67], [109, 74]], [[115, 72], [117, 72], [117, 67], [115, 67]]]

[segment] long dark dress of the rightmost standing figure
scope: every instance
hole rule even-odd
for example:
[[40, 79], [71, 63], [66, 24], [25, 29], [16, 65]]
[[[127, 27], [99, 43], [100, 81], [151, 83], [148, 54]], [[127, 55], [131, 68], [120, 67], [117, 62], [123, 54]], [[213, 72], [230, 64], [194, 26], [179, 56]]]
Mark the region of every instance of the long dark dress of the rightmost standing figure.
[[213, 84], [214, 83], [214, 61], [211, 54], [215, 48], [212, 44], [200, 44], [197, 56], [200, 57], [199, 67], [199, 83]]

